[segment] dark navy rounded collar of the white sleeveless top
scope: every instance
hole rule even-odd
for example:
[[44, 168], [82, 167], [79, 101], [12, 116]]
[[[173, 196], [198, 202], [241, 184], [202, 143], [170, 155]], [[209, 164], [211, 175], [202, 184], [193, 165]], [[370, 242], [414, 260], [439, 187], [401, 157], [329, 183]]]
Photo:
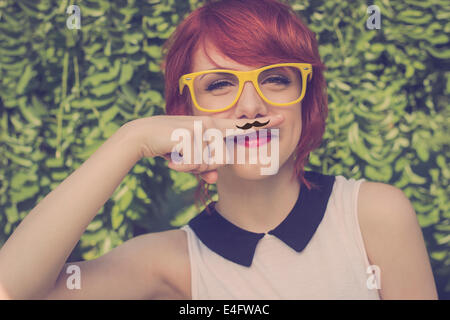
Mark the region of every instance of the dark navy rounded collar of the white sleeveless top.
[[[305, 178], [318, 185], [311, 189], [301, 185], [297, 202], [288, 216], [268, 233], [297, 252], [302, 251], [313, 237], [327, 208], [335, 176], [306, 171]], [[265, 233], [244, 230], [222, 217], [215, 210], [215, 201], [189, 221], [190, 228], [212, 251], [225, 259], [250, 267], [258, 241]]]

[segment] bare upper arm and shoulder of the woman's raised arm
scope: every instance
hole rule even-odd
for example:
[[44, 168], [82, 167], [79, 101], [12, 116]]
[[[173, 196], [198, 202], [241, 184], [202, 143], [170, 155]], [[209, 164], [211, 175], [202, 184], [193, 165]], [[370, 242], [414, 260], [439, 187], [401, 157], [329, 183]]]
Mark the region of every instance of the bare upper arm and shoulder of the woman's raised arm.
[[[67, 286], [71, 265], [80, 273], [79, 290]], [[45, 299], [190, 299], [185, 232], [139, 235], [96, 259], [66, 263]]]

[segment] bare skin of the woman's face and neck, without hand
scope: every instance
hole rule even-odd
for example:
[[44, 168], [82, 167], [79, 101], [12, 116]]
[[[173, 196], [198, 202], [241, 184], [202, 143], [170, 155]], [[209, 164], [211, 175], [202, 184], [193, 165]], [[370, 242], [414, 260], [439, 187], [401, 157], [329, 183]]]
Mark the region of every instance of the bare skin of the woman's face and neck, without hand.
[[[244, 66], [221, 55], [214, 47], [207, 48], [212, 61], [200, 48], [194, 54], [192, 72], [211, 68], [249, 71], [255, 67]], [[262, 67], [262, 66], [260, 66]], [[193, 108], [194, 115], [209, 113]], [[282, 114], [285, 121], [279, 128], [279, 172], [261, 175], [260, 164], [230, 164], [217, 169], [219, 200], [216, 209], [229, 221], [252, 232], [267, 232], [284, 220], [294, 207], [300, 185], [290, 180], [294, 149], [300, 139], [301, 102], [289, 107], [275, 107], [266, 103], [252, 83], [247, 82], [236, 105], [213, 118], [252, 119]], [[235, 146], [236, 154], [237, 146]], [[270, 148], [268, 147], [270, 150]], [[248, 153], [248, 149], [247, 149]]]

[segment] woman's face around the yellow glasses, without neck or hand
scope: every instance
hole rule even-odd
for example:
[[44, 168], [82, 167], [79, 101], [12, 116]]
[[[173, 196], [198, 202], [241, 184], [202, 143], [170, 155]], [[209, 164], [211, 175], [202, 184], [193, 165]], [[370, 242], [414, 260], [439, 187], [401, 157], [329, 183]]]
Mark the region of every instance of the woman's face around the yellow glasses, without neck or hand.
[[[199, 72], [208, 69], [233, 69], [239, 71], [254, 70], [259, 67], [249, 67], [239, 64], [229, 58], [220, 54], [213, 46], [207, 48], [211, 59], [215, 64], [206, 56], [202, 48], [200, 47], [194, 53], [193, 65], [191, 72]], [[219, 66], [219, 67], [218, 67]], [[191, 103], [192, 104], [192, 103]], [[279, 152], [278, 155], [273, 155], [271, 152], [273, 148], [270, 141], [267, 145], [267, 157], [273, 159], [274, 156], [278, 156], [279, 168], [281, 170], [283, 164], [287, 160], [292, 160], [292, 156], [300, 139], [302, 131], [301, 121], [301, 102], [292, 104], [287, 107], [276, 107], [266, 103], [258, 94], [255, 87], [251, 82], [247, 82], [244, 85], [241, 96], [236, 104], [225, 111], [210, 113], [198, 110], [192, 104], [192, 114], [194, 116], [211, 116], [214, 118], [228, 118], [228, 119], [254, 119], [264, 116], [283, 114], [284, 121], [277, 127], [279, 129]], [[230, 128], [231, 129], [231, 128]], [[245, 164], [238, 164], [236, 161], [237, 148], [244, 148], [246, 153]], [[259, 152], [258, 152], [259, 153]], [[235, 159], [233, 164], [225, 165], [218, 169], [219, 175], [236, 175], [243, 179], [258, 180], [267, 177], [267, 175], [261, 174], [261, 168], [268, 168], [268, 164], [260, 164], [259, 156], [257, 164], [249, 164], [249, 149], [244, 146], [234, 146]]]

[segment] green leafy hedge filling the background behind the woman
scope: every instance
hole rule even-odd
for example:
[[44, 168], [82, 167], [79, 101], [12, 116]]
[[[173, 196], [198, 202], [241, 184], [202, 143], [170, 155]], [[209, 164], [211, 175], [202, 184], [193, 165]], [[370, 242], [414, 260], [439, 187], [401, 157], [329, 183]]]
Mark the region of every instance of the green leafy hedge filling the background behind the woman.
[[[401, 188], [440, 297], [450, 294], [448, 1], [289, 1], [316, 32], [330, 115], [307, 169]], [[81, 8], [81, 29], [66, 9]], [[0, 1], [0, 243], [122, 124], [164, 113], [161, 46], [200, 1]], [[139, 162], [70, 260], [93, 259], [196, 214], [196, 180]], [[217, 196], [217, 195], [215, 195]], [[412, 268], [414, 266], [411, 266]]]

